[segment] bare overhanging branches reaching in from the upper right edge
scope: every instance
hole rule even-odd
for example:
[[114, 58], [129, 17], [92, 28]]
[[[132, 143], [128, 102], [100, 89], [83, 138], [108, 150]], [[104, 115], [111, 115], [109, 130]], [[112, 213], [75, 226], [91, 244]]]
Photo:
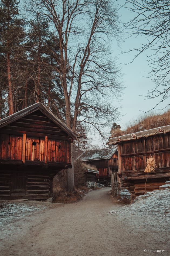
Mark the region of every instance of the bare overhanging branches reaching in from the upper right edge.
[[[149, 91], [149, 98], [159, 98], [156, 108], [170, 96], [170, 2], [166, 0], [125, 0], [122, 7], [132, 11], [131, 20], [123, 24], [123, 31], [128, 37], [144, 35], [147, 43], [137, 51], [134, 59], [149, 49], [148, 61], [151, 70], [149, 77], [155, 82], [155, 87]], [[167, 104], [164, 108], [169, 106]]]

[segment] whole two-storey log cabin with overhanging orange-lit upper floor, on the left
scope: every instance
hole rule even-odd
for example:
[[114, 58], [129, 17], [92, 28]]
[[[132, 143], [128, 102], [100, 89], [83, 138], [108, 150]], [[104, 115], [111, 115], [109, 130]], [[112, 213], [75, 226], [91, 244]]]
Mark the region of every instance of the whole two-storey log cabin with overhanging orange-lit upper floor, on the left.
[[41, 103], [0, 120], [0, 200], [52, 197], [77, 135]]

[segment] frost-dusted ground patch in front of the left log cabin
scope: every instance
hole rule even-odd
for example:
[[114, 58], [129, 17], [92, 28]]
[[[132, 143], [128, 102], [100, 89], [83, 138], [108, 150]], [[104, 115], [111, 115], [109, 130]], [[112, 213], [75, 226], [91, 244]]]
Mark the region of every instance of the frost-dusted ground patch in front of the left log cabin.
[[38, 205], [34, 202], [0, 201], [0, 224], [9, 223], [14, 217], [16, 220], [44, 209], [46, 209], [45, 205]]

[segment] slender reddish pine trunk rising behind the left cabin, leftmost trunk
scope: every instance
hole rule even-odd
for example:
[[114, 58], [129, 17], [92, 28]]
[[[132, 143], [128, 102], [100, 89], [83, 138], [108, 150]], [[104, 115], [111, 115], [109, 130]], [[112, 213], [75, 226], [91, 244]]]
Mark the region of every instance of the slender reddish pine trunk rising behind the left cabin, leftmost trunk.
[[[8, 47], [8, 44], [7, 44]], [[14, 113], [13, 109], [13, 97], [12, 97], [12, 85], [11, 85], [11, 70], [10, 70], [10, 56], [9, 52], [7, 53], [7, 73], [8, 73], [8, 107], [9, 115]]]

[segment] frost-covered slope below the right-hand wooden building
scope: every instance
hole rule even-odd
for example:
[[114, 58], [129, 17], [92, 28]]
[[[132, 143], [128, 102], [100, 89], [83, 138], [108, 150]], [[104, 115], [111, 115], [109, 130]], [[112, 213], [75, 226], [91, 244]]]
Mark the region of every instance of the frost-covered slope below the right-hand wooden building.
[[129, 218], [135, 215], [136, 219], [143, 219], [156, 225], [161, 222], [165, 225], [170, 220], [170, 189], [154, 190], [138, 196], [131, 205], [125, 205], [121, 210], [112, 210], [110, 214]]

